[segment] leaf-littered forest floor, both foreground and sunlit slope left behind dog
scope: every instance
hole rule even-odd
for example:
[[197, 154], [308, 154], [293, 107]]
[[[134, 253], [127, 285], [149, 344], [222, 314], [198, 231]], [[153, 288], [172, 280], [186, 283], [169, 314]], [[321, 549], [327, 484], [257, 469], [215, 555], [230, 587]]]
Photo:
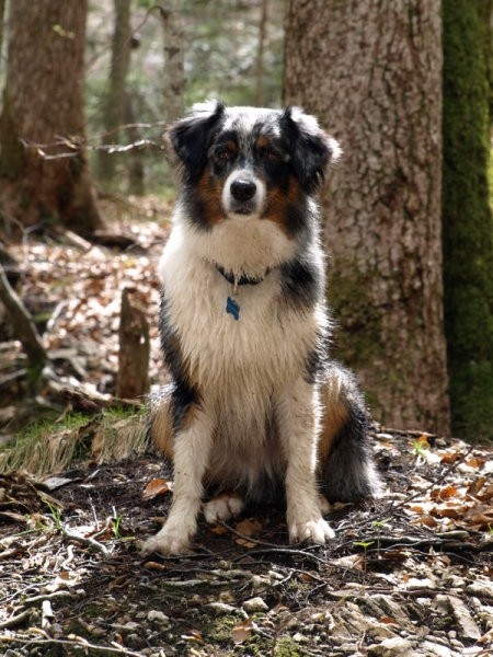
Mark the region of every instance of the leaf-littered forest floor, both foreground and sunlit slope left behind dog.
[[[133, 209], [137, 220], [128, 221]], [[22, 298], [49, 318], [45, 345], [67, 384], [113, 392], [124, 287], [147, 299], [150, 377], [162, 379], [152, 318], [168, 230], [154, 219], [168, 209], [157, 199], [138, 209], [123, 203], [113, 226], [133, 238], [125, 250], [34, 237], [9, 246], [21, 263]], [[23, 357], [10, 336], [1, 339], [9, 447], [26, 417], [15, 399]], [[141, 541], [169, 508], [169, 472], [146, 445], [103, 460], [100, 416], [57, 433], [67, 410], [42, 390], [36, 413], [43, 399], [58, 413], [45, 431], [60, 443], [70, 431], [82, 436], [84, 451], [64, 468], [0, 474], [0, 654], [492, 654], [491, 448], [376, 426], [386, 493], [371, 504], [335, 505], [329, 519], [336, 535], [325, 546], [289, 545], [283, 509], [262, 508], [232, 526], [200, 522], [190, 555], [142, 558]]]

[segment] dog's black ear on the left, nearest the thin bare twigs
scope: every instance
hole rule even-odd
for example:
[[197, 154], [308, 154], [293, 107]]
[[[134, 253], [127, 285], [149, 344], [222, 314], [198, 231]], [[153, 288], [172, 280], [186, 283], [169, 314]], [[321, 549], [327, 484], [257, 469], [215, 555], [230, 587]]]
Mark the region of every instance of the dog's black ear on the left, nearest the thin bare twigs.
[[193, 106], [192, 114], [171, 125], [167, 137], [187, 172], [202, 173], [214, 128], [225, 114], [220, 101]]

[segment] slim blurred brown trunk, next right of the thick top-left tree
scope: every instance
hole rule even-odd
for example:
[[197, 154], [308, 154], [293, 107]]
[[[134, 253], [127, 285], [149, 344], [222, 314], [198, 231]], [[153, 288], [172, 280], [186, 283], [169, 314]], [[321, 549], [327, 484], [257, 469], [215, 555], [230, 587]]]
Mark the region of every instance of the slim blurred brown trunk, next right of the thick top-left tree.
[[[103, 143], [118, 142], [118, 127], [125, 123], [126, 79], [130, 64], [130, 0], [114, 0], [115, 27], [112, 41], [112, 66], [103, 123], [106, 135]], [[117, 154], [105, 150], [98, 152], [98, 173], [104, 182], [115, 176]]]

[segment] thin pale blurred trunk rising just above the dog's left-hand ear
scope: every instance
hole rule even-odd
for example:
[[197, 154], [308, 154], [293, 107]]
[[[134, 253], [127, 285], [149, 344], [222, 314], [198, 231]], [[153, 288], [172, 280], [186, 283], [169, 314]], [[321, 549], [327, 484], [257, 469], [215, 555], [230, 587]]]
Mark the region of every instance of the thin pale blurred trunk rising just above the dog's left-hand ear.
[[177, 3], [172, 0], [159, 5], [164, 41], [164, 118], [174, 120], [183, 115], [185, 89], [185, 60], [183, 28]]

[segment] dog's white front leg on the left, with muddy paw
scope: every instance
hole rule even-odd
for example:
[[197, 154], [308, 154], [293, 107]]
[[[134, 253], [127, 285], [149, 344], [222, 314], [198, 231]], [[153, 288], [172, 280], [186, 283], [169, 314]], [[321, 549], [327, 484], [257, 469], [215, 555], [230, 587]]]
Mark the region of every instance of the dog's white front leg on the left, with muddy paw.
[[142, 545], [142, 554], [183, 554], [197, 531], [203, 477], [210, 452], [213, 424], [199, 407], [188, 411], [174, 441], [173, 503], [163, 528]]

